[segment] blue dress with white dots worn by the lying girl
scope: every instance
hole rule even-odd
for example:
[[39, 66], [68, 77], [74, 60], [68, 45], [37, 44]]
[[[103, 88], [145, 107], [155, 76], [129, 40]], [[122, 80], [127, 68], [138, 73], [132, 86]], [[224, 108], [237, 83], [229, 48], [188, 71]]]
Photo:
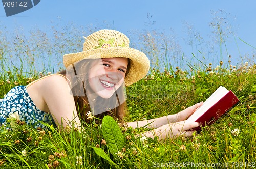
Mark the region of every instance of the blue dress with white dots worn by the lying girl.
[[3, 99], [0, 99], [0, 125], [6, 125], [7, 118], [14, 112], [18, 112], [21, 121], [25, 121], [34, 128], [45, 128], [40, 121], [56, 126], [50, 114], [35, 106], [26, 86], [16, 86]]

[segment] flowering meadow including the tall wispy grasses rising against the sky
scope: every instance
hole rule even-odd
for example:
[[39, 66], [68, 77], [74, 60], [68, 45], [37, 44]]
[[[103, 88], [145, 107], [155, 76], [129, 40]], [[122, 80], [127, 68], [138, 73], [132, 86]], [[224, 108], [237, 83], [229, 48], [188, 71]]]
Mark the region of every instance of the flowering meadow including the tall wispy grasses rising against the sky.
[[[8, 35], [3, 32], [0, 34], [0, 98], [14, 86], [27, 85], [42, 76], [57, 72], [61, 68], [60, 64], [50, 64], [58, 59], [57, 55], [61, 58], [61, 54], [66, 51], [80, 51], [82, 42], [72, 41], [77, 38], [72, 36], [77, 33], [76, 30], [70, 34], [65, 31], [53, 31], [53, 40], [38, 30], [36, 34], [31, 33], [31, 37], [40, 37], [38, 39], [41, 41], [15, 35], [8, 42]], [[69, 36], [67, 48], [65, 44], [56, 43], [61, 35], [64, 38]], [[135, 137], [148, 129], [126, 128], [108, 116], [102, 120], [102, 126], [97, 125], [93, 118], [90, 124], [84, 124], [82, 132], [74, 128], [58, 131], [47, 124], [46, 129], [35, 129], [22, 121], [9, 119], [16, 129], [10, 130], [8, 125], [0, 128], [0, 168], [256, 167], [254, 55], [249, 57], [251, 60], [241, 60], [236, 66], [232, 65], [229, 55], [213, 63], [196, 56], [201, 61], [200, 65], [190, 63], [185, 68], [182, 66], [186, 65], [183, 59], [171, 63], [174, 59], [163, 55], [163, 59], [158, 60], [161, 58], [157, 57], [159, 51], [152, 48], [153, 39], [150, 40], [148, 44], [151, 45], [146, 44], [146, 49], [154, 64], [146, 77], [127, 87], [129, 114], [126, 121], [175, 114], [205, 101], [220, 85], [232, 90], [240, 102], [216, 123], [202, 128], [200, 133], [192, 137], [179, 136], [161, 141], [157, 138]], [[10, 49], [12, 43], [16, 44]], [[54, 47], [49, 47], [53, 44]], [[221, 53], [224, 55], [223, 51]], [[36, 62], [46, 60], [45, 55], [51, 56], [49, 64], [44, 62], [38, 70]], [[179, 57], [182, 58], [182, 55]]]

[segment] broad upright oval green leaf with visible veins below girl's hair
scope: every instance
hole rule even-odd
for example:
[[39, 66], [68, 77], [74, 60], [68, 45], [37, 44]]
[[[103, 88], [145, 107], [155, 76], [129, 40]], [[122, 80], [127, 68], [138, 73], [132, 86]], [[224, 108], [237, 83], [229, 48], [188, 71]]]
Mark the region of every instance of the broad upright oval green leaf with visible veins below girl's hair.
[[111, 116], [105, 116], [102, 120], [102, 133], [110, 152], [116, 156], [124, 145], [123, 134], [117, 122]]

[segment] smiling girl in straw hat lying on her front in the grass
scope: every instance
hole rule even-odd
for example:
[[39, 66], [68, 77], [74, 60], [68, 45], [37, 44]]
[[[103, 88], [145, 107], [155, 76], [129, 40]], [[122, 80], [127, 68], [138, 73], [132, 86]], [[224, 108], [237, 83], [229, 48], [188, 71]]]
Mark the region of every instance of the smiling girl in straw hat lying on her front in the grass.
[[[115, 30], [100, 30], [84, 37], [83, 51], [65, 54], [65, 71], [11, 89], [0, 101], [0, 124], [16, 115], [34, 127], [53, 123], [79, 128], [89, 123], [90, 112], [98, 118], [108, 114], [122, 122], [125, 116], [125, 86], [143, 78], [150, 67], [146, 55], [129, 47], [129, 39]], [[180, 134], [191, 136], [198, 123], [184, 123], [202, 103], [175, 114], [146, 121], [128, 122], [142, 127], [150, 123], [146, 137], [159, 139]]]

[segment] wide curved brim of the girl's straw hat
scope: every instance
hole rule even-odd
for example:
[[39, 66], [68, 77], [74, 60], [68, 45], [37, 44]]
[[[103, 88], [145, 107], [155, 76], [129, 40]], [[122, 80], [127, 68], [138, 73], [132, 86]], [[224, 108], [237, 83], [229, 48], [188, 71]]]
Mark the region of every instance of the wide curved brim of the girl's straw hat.
[[150, 69], [150, 60], [146, 55], [129, 47], [109, 47], [86, 50], [78, 53], [65, 54], [63, 56], [63, 64], [67, 68], [69, 65], [83, 59], [99, 59], [99, 58], [129, 58], [131, 67], [124, 81], [129, 86], [142, 79]]

